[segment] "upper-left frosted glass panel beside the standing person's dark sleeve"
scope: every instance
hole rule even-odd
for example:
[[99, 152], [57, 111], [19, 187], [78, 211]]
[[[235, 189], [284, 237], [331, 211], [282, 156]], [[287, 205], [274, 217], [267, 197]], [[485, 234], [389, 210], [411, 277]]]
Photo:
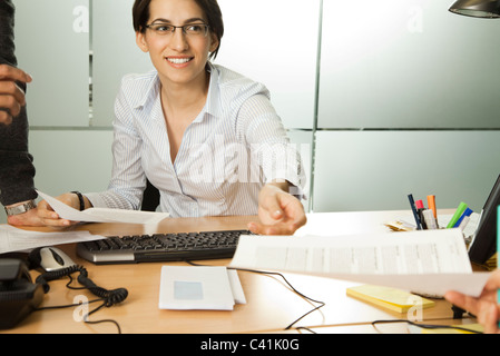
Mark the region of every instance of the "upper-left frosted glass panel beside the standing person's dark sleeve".
[[89, 123], [89, 1], [16, 0], [19, 67], [33, 77], [32, 126]]

